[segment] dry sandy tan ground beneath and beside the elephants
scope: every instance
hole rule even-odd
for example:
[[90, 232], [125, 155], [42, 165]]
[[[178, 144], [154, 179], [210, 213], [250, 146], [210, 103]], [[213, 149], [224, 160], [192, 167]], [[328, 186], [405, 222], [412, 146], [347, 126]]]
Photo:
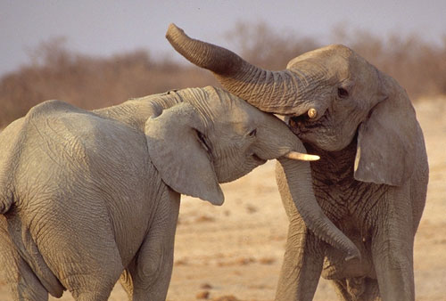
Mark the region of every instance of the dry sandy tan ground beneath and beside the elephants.
[[[416, 109], [430, 163], [425, 213], [415, 241], [417, 300], [446, 300], [446, 99], [418, 102]], [[183, 198], [168, 300], [274, 299], [287, 227], [274, 166], [268, 162], [224, 184], [222, 207]], [[0, 300], [8, 299], [5, 292], [0, 284]], [[126, 299], [117, 284], [110, 300]], [[334, 299], [331, 285], [321, 279], [315, 300]], [[65, 293], [62, 300], [72, 298]]]

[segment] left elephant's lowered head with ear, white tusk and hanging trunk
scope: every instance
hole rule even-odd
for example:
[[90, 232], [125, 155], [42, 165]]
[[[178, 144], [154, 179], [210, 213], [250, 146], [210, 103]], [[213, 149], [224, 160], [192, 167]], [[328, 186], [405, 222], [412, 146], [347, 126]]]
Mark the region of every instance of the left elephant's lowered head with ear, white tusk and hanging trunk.
[[318, 207], [310, 164], [305, 162], [318, 157], [305, 154], [301, 141], [282, 120], [217, 88], [175, 94], [182, 101], [159, 110], [145, 124], [150, 157], [165, 183], [179, 193], [220, 205], [219, 183], [246, 175], [268, 159], [278, 159], [285, 172], [292, 174], [293, 195], [301, 200], [296, 207], [304, 218], [318, 221], [326, 241], [350, 256], [359, 256], [351, 240]]

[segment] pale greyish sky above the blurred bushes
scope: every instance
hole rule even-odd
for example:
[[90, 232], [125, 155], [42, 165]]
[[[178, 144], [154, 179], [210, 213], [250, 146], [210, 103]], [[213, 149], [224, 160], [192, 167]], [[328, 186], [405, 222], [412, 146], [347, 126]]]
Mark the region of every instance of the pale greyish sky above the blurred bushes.
[[191, 37], [229, 47], [225, 33], [239, 20], [265, 21], [322, 44], [334, 26], [367, 29], [382, 37], [417, 34], [446, 38], [445, 0], [0, 0], [0, 76], [29, 62], [29, 50], [52, 37], [66, 37], [76, 52], [111, 55], [145, 48], [170, 53], [164, 35], [170, 22]]

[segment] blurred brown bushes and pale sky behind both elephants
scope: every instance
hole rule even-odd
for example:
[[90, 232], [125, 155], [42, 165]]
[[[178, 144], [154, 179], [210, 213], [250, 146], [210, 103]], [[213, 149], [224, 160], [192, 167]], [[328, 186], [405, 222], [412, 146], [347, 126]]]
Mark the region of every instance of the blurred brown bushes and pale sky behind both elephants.
[[442, 0], [1, 1], [0, 128], [47, 99], [94, 109], [218, 85], [170, 47], [170, 22], [268, 69], [348, 45], [416, 102], [446, 94], [445, 12]]

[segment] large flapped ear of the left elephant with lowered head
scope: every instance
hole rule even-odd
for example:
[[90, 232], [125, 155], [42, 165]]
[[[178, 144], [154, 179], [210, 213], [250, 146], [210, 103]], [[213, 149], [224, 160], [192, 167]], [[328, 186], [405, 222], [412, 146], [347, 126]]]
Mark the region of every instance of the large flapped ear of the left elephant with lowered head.
[[182, 102], [163, 110], [145, 122], [149, 155], [171, 189], [221, 205], [223, 192], [197, 131], [203, 133], [202, 123], [190, 104]]

